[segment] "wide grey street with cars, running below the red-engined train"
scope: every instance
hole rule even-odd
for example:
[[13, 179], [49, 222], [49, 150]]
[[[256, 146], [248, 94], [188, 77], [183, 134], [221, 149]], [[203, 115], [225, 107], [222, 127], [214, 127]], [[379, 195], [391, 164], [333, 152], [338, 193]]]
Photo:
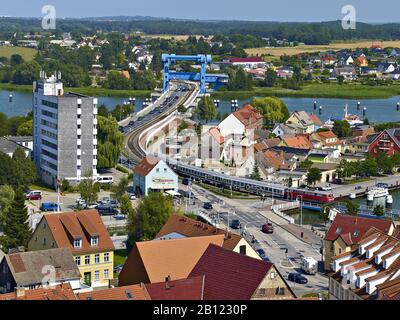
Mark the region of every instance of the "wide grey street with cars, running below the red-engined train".
[[[187, 186], [180, 186], [182, 190], [188, 191]], [[275, 232], [273, 234], [264, 234], [261, 232], [261, 226], [266, 222], [266, 217], [262, 212], [269, 210], [271, 200], [262, 202], [258, 199], [237, 200], [217, 196], [197, 185], [192, 186], [192, 192], [196, 199], [188, 205], [188, 212], [207, 212], [209, 215], [219, 214], [222, 224], [225, 228], [229, 225], [228, 220], [240, 220], [244, 227], [244, 234], [249, 243], [254, 236], [258, 242], [256, 247], [264, 249], [269, 260], [273, 262], [281, 274], [287, 279], [290, 272], [299, 271], [300, 256], [311, 256], [317, 261], [321, 260], [320, 248], [322, 241], [318, 236], [312, 239], [311, 244], [306, 243], [292, 233], [288, 232], [283, 226], [274, 224]], [[211, 202], [213, 210], [202, 209], [204, 202]], [[186, 204], [184, 204], [186, 207]], [[273, 213], [272, 213], [273, 214]], [[271, 222], [271, 221], [270, 221]], [[220, 225], [221, 227], [221, 225]], [[230, 230], [241, 234], [243, 230]], [[243, 233], [242, 233], [243, 234]], [[286, 255], [286, 249], [288, 253]], [[292, 290], [298, 296], [310, 292], [321, 292], [328, 290], [328, 279], [318, 273], [316, 275], [305, 275], [308, 284], [301, 285], [288, 281]]]

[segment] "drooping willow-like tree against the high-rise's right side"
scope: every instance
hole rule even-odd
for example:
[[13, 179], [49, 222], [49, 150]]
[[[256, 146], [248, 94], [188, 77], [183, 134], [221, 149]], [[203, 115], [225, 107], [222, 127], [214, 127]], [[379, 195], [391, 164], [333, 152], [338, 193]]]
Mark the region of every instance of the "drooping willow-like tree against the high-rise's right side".
[[98, 168], [114, 168], [123, 148], [124, 136], [113, 117], [98, 116]]

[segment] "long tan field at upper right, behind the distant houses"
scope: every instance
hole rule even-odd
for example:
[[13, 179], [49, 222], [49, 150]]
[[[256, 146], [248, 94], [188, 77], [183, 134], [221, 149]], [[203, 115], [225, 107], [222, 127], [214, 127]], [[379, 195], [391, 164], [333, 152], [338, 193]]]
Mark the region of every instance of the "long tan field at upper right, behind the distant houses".
[[256, 55], [272, 55], [273, 57], [280, 57], [282, 55], [295, 55], [305, 52], [317, 52], [341, 49], [357, 49], [357, 48], [370, 48], [372, 44], [379, 44], [383, 48], [395, 47], [400, 48], [400, 41], [357, 41], [357, 42], [334, 42], [329, 45], [301, 45], [297, 47], [281, 47], [281, 48], [251, 48], [246, 49], [246, 52], [251, 56]]

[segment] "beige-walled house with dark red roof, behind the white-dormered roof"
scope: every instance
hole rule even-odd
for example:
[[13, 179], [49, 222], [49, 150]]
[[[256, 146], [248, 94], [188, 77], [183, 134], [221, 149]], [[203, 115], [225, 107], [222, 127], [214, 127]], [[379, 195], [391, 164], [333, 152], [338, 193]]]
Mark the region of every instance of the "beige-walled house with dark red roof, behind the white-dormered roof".
[[325, 270], [331, 269], [332, 257], [352, 251], [371, 227], [387, 235], [392, 235], [395, 230], [395, 226], [390, 220], [338, 214], [324, 239]]

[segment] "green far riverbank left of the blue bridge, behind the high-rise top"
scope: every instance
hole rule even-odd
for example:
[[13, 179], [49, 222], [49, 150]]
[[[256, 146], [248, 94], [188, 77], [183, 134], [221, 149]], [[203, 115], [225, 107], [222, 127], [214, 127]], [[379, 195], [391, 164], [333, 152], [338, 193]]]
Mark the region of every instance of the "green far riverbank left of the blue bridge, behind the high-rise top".
[[[0, 90], [17, 91], [17, 92], [32, 92], [31, 85], [16, 85], [12, 83], [0, 83]], [[65, 88], [66, 91], [72, 91], [79, 94], [84, 94], [93, 97], [135, 97], [146, 98], [150, 97], [151, 90], [111, 90], [105, 88], [94, 87], [78, 87]]]

